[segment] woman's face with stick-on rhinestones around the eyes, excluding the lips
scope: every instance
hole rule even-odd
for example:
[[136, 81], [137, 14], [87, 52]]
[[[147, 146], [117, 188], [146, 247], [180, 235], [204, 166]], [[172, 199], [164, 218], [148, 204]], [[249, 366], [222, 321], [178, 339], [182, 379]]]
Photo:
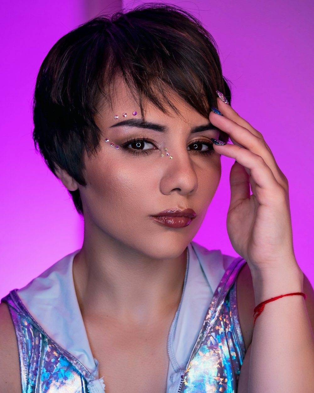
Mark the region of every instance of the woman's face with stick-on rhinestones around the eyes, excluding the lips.
[[[87, 185], [79, 186], [85, 236], [118, 242], [121, 250], [150, 258], [175, 258], [197, 233], [219, 184], [220, 156], [210, 140], [218, 138], [219, 130], [176, 95], [181, 116], [164, 114], [147, 102], [145, 121], [151, 124], [142, 128], [131, 123], [141, 123], [141, 111], [123, 83], [117, 85], [117, 97], [113, 109], [102, 108], [96, 119], [103, 132], [99, 151], [85, 157]], [[152, 219], [161, 211], [187, 208], [196, 216], [182, 228]]]

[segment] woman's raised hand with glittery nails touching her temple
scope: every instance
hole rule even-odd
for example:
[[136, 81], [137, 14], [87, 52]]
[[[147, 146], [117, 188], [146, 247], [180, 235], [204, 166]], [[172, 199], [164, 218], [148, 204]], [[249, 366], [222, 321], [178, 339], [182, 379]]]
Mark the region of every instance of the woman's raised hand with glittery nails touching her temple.
[[214, 144], [214, 150], [236, 160], [230, 172], [227, 215], [232, 246], [251, 271], [296, 266], [287, 178], [262, 134], [221, 99], [217, 105], [223, 116], [210, 112], [209, 119], [234, 144]]

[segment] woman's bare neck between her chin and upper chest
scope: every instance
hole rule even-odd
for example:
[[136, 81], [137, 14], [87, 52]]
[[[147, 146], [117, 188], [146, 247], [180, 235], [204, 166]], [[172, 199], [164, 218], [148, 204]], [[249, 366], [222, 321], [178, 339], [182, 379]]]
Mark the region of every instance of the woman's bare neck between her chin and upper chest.
[[83, 317], [111, 315], [140, 323], [173, 312], [182, 295], [186, 253], [159, 259], [103, 233], [85, 233], [73, 263]]

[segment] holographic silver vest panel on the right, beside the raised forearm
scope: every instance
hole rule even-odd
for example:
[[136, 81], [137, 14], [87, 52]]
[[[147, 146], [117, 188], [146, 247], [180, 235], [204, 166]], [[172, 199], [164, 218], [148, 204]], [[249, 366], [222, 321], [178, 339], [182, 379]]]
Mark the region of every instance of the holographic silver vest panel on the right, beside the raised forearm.
[[235, 261], [217, 287], [182, 375], [179, 393], [236, 393], [245, 345], [237, 312]]

